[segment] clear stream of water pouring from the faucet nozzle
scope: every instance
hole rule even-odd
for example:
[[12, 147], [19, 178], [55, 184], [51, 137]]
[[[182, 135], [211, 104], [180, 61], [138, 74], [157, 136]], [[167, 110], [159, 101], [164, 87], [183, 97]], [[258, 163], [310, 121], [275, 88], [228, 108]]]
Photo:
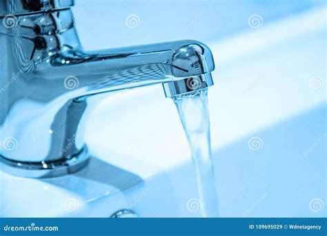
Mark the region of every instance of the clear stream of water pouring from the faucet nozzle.
[[190, 145], [197, 176], [199, 204], [203, 217], [218, 217], [218, 201], [211, 159], [208, 90], [174, 97]]

